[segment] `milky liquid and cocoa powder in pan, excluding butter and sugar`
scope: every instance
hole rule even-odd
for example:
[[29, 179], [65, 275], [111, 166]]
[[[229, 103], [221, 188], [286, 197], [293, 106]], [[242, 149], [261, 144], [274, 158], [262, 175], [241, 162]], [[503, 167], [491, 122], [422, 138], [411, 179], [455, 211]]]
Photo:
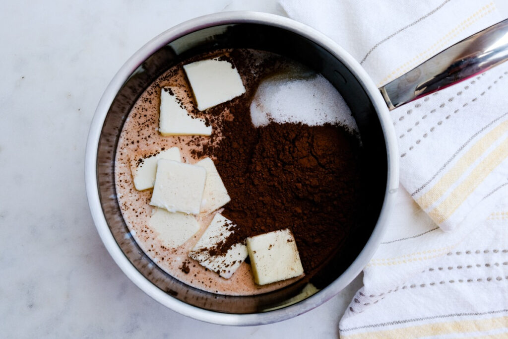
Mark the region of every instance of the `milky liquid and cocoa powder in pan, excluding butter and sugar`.
[[[243, 80], [246, 93], [204, 112], [196, 109], [182, 66], [215, 56], [229, 59]], [[249, 107], [264, 78], [294, 67], [293, 61], [269, 52], [220, 50], [176, 65], [154, 81], [134, 105], [123, 126], [115, 159], [118, 202], [123, 218], [140, 248], [176, 279], [205, 291], [253, 295], [294, 283], [294, 278], [265, 286], [253, 282], [250, 264], [242, 263], [226, 280], [188, 257], [213, 213], [198, 215], [200, 231], [177, 249], [164, 245], [149, 227], [152, 190], [134, 188], [131, 168], [139, 159], [172, 146], [182, 162], [194, 164], [210, 157], [231, 201], [219, 209], [238, 225], [215, 253], [226, 253], [248, 236], [290, 228], [295, 235], [307, 278], [323, 267], [358, 220], [361, 174], [358, 138], [346, 128], [325, 124], [271, 122], [252, 125]], [[163, 137], [158, 131], [160, 91], [179, 88], [176, 96], [190, 114], [211, 124], [211, 136]]]

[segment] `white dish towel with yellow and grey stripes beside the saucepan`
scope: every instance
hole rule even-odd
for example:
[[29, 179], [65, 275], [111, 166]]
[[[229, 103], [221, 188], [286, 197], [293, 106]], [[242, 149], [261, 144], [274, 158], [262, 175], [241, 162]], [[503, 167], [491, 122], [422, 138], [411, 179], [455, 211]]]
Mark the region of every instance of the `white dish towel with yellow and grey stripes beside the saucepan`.
[[[280, 4], [377, 86], [508, 16], [485, 0]], [[341, 337], [506, 337], [508, 63], [390, 114], [402, 187]]]

